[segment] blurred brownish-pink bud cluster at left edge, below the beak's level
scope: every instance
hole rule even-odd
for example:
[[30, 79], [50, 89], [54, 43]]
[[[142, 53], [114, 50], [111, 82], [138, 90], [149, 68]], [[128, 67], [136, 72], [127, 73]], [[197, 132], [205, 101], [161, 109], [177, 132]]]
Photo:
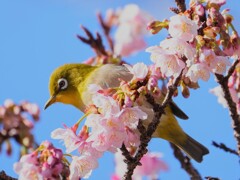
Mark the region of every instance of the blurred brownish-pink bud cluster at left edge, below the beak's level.
[[[15, 139], [25, 150], [34, 147], [31, 129], [34, 122], [39, 120], [39, 114], [39, 107], [26, 101], [17, 105], [7, 99], [3, 106], [0, 106], [0, 146], [6, 143], [7, 154], [10, 155], [12, 152], [10, 138]], [[33, 121], [29, 120], [29, 117]]]

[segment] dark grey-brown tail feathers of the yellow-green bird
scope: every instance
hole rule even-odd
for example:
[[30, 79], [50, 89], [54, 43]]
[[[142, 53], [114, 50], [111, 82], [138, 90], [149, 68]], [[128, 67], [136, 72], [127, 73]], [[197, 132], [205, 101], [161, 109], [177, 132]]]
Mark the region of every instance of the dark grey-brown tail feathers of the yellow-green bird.
[[[187, 135], [187, 134], [186, 134]], [[197, 162], [202, 162], [203, 156], [208, 154], [208, 149], [197, 142], [195, 139], [187, 135], [187, 140], [184, 143], [176, 143], [176, 146], [182, 149], [190, 158], [196, 160]]]

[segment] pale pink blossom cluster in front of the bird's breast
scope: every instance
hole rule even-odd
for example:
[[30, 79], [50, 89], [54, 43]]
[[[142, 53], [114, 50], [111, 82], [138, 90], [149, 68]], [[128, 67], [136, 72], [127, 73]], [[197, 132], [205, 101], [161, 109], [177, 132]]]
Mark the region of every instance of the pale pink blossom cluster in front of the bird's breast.
[[96, 85], [91, 85], [90, 91], [93, 104], [80, 133], [76, 132], [78, 124], [52, 132], [52, 138], [64, 141], [67, 153], [77, 149], [80, 154], [72, 157], [70, 179], [89, 177], [105, 151], [116, 152], [123, 143], [127, 147], [138, 146], [137, 124], [139, 119], [147, 118], [147, 114], [137, 106], [121, 109], [117, 101]]

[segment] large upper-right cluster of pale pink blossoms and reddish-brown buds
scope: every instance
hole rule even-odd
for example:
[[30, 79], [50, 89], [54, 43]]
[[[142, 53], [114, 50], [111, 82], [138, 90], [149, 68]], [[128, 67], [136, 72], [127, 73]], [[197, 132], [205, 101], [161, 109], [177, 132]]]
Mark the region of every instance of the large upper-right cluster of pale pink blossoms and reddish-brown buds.
[[[182, 83], [188, 86], [189, 80], [208, 81], [211, 73], [223, 75], [231, 65], [229, 59], [239, 58], [239, 36], [228, 10], [219, 12], [223, 4], [225, 1], [209, 0], [205, 5], [191, 1], [190, 10], [169, 21], [149, 24], [151, 32], [166, 28], [170, 35], [160, 45], [146, 49], [164, 76], [175, 78], [182, 73]], [[202, 18], [206, 18], [206, 23], [202, 23]]]

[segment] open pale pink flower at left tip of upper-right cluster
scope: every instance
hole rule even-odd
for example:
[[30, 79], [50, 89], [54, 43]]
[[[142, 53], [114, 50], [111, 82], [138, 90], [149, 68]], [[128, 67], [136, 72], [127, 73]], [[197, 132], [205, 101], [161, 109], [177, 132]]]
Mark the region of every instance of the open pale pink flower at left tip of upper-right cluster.
[[185, 67], [184, 62], [177, 55], [160, 46], [149, 47], [146, 51], [151, 53], [151, 60], [156, 67], [160, 67], [161, 73], [167, 77], [179, 75]]

